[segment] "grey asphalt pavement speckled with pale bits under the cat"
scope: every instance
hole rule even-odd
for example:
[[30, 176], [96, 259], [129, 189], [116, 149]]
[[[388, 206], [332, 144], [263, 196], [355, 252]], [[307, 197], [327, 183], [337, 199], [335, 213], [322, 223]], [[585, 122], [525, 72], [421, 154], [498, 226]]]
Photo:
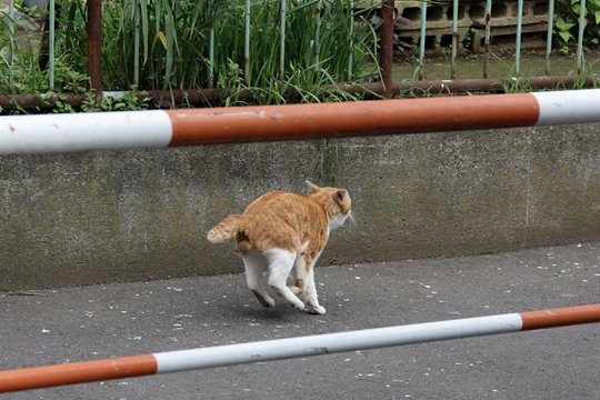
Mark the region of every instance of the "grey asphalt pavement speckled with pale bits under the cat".
[[[600, 243], [327, 267], [324, 316], [242, 274], [0, 292], [0, 369], [600, 302]], [[600, 324], [87, 383], [3, 399], [600, 399]]]

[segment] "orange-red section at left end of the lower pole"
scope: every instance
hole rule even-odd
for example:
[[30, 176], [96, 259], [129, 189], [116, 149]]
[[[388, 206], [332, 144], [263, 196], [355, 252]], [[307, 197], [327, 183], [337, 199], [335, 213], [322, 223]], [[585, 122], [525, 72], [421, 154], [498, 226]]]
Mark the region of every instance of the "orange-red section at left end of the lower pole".
[[0, 393], [157, 373], [152, 354], [0, 371]]

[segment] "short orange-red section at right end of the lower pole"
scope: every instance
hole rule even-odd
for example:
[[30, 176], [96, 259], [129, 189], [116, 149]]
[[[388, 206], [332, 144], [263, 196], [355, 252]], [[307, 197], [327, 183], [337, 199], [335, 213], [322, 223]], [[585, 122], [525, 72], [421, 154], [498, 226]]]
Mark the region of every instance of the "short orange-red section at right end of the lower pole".
[[567, 307], [520, 313], [522, 330], [556, 328], [600, 321], [600, 304]]

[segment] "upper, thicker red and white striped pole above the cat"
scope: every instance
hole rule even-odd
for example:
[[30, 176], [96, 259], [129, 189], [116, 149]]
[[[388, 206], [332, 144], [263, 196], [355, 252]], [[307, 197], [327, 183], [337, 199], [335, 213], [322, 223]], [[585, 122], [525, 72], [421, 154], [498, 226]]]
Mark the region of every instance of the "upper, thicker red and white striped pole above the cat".
[[0, 117], [0, 154], [600, 122], [600, 89]]

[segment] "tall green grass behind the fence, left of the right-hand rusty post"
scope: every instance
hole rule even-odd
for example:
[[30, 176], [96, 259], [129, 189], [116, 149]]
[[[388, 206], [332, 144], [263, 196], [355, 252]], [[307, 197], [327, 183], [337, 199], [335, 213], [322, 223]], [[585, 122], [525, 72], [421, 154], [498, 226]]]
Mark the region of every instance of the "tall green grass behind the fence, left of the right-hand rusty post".
[[[136, 7], [136, 4], [138, 4]], [[280, 69], [279, 0], [252, 0], [250, 57], [244, 59], [246, 0], [167, 1], [113, 0], [103, 3], [102, 84], [104, 90], [227, 88], [227, 104], [239, 103], [237, 90], [251, 90], [254, 101], [284, 102], [290, 89], [300, 101], [349, 99], [328, 92], [327, 83], [360, 80], [356, 71], [377, 69], [377, 36], [354, 13], [350, 1], [288, 0], [286, 57]], [[317, 19], [316, 16], [319, 14]], [[62, 0], [56, 39], [57, 91], [84, 91], [87, 70], [87, 8], [82, 0]], [[319, 26], [317, 24], [319, 20]], [[0, 47], [8, 42], [7, 19], [0, 23]], [[209, 60], [209, 36], [214, 32], [214, 59]], [[138, 48], [139, 51], [134, 49]], [[10, 62], [2, 51], [0, 72]], [[4, 78], [0, 93], [49, 90], [48, 72], [31, 49], [17, 51], [13, 84]], [[212, 71], [212, 73], [211, 73]], [[353, 72], [354, 71], [354, 72]], [[260, 88], [260, 89], [259, 89]]]

